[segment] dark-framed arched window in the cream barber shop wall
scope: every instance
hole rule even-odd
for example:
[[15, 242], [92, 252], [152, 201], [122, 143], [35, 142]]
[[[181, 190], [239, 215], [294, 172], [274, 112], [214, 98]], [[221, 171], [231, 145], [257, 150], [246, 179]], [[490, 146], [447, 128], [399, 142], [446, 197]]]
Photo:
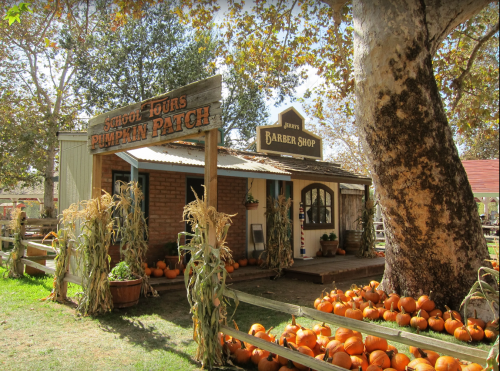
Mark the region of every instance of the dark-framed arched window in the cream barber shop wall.
[[313, 183], [302, 190], [304, 229], [334, 228], [333, 191], [321, 183]]

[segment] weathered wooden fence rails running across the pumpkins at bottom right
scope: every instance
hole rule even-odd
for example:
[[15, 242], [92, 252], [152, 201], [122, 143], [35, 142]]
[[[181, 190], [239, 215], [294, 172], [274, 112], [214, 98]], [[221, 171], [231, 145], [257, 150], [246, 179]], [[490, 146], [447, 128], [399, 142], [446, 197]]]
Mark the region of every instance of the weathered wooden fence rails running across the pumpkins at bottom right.
[[[262, 308], [293, 314], [297, 317], [307, 317], [318, 320], [319, 322], [326, 322], [340, 327], [347, 327], [350, 328], [351, 330], [356, 330], [365, 334], [382, 337], [384, 339], [395, 341], [401, 344], [412, 345], [414, 347], [433, 350], [441, 354], [446, 354], [466, 361], [475, 362], [480, 365], [486, 364], [486, 359], [488, 357], [488, 352], [481, 349], [471, 348], [463, 345], [451, 344], [446, 341], [413, 334], [411, 332], [387, 328], [384, 326], [376, 325], [373, 323], [367, 323], [364, 321], [358, 321], [351, 318], [341, 317], [333, 313], [321, 312], [314, 308], [301, 307], [298, 305], [282, 303], [279, 301], [263, 298], [260, 296], [250, 295], [242, 291], [226, 289], [224, 295], [232, 299], [237, 298], [239, 301], [243, 303], [253, 304]], [[231, 329], [231, 332], [234, 331], [236, 330]], [[223, 328], [222, 332], [224, 332], [227, 335], [231, 335], [229, 332], [226, 332], [225, 327]], [[241, 340], [239, 337], [240, 333], [246, 335], [243, 332], [239, 332], [236, 335], [236, 338], [239, 340]], [[252, 343], [252, 341], [249, 342]], [[263, 348], [263, 349], [274, 353], [274, 350], [270, 350], [269, 348]], [[296, 359], [293, 360], [295, 361]], [[297, 361], [302, 363], [302, 359], [300, 360], [297, 359]], [[306, 363], [302, 364], [308, 367], [313, 367], [315, 369], [317, 368], [316, 363], [314, 363], [314, 366], [312, 364], [311, 365]]]

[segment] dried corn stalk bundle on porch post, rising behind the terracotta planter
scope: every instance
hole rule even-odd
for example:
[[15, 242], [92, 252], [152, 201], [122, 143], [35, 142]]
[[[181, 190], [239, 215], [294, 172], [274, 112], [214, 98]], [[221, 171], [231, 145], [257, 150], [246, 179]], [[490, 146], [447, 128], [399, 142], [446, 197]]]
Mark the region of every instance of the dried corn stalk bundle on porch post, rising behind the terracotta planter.
[[140, 208], [144, 194], [137, 182], [132, 181], [127, 184], [118, 181], [117, 183], [120, 190], [119, 194], [115, 195], [120, 256], [128, 264], [133, 274], [142, 277], [142, 294], [144, 296], [158, 296], [142, 267], [148, 251], [148, 226]]

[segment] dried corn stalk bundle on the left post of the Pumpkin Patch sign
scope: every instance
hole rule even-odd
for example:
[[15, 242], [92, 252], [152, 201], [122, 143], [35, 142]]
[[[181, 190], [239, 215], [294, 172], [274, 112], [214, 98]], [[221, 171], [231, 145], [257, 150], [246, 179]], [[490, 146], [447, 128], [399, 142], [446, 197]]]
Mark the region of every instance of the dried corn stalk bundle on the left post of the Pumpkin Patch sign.
[[77, 310], [84, 316], [99, 315], [113, 309], [109, 289], [109, 245], [114, 235], [113, 207], [109, 193], [82, 201], [77, 216], [82, 220], [82, 233], [78, 236], [79, 260], [83, 268], [83, 295]]

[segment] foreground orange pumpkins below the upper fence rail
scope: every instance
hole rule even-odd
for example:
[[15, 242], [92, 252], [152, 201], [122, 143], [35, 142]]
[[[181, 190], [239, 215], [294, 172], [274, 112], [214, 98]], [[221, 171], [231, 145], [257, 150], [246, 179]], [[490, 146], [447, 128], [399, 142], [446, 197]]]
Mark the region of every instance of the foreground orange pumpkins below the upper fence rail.
[[[262, 340], [275, 342], [294, 351], [332, 363], [347, 370], [362, 371], [480, 371], [476, 363], [464, 365], [450, 356], [441, 356], [432, 350], [410, 347], [415, 359], [398, 353], [396, 347], [386, 339], [363, 335], [358, 331], [339, 327], [335, 333], [329, 326], [317, 324], [307, 329], [295, 322], [288, 324], [278, 337], [271, 335], [261, 324], [253, 324], [249, 334]], [[245, 365], [253, 362], [259, 371], [307, 371], [308, 367], [267, 350], [257, 348], [248, 342], [241, 342], [228, 335], [219, 334], [221, 345], [231, 353], [232, 360]]]

